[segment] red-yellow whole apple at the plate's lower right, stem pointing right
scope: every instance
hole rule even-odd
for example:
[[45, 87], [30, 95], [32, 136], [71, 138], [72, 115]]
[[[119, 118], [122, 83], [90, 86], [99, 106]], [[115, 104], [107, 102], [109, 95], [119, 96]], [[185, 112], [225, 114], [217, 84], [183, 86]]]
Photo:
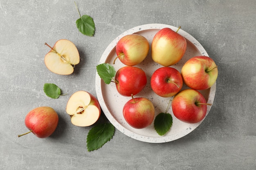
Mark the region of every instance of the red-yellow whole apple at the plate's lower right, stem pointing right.
[[207, 113], [207, 104], [203, 95], [194, 89], [185, 89], [173, 97], [173, 115], [186, 123], [198, 123]]

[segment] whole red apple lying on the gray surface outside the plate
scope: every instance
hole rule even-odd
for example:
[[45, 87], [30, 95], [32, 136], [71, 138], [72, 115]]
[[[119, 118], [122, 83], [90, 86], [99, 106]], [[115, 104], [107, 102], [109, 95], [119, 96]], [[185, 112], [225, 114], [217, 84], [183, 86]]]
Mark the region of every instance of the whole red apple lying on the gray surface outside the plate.
[[[27, 114], [25, 125], [30, 130], [29, 132], [34, 133], [36, 137], [49, 137], [58, 125], [58, 114], [51, 107], [38, 107]], [[18, 135], [18, 137], [26, 135], [29, 132]]]

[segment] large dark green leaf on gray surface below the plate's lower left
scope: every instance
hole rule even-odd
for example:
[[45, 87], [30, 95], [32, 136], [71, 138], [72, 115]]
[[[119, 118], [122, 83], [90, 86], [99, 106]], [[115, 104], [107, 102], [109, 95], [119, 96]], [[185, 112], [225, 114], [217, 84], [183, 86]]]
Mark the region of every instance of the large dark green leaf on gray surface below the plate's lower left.
[[90, 152], [101, 148], [112, 139], [114, 133], [115, 127], [110, 123], [94, 126], [87, 135], [87, 150]]

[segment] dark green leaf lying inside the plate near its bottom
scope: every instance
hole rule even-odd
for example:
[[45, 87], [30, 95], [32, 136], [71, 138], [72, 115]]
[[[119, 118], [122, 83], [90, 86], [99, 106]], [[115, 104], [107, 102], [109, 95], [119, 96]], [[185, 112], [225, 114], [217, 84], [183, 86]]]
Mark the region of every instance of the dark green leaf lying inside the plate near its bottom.
[[166, 134], [173, 124], [173, 117], [169, 113], [159, 113], [155, 117], [154, 127], [158, 135], [163, 136]]

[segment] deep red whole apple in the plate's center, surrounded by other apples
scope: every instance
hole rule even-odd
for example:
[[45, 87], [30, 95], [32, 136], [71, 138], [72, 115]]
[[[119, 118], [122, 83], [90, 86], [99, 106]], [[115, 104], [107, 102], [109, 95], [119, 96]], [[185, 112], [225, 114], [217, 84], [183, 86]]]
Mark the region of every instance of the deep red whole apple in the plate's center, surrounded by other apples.
[[152, 90], [161, 97], [172, 97], [182, 88], [182, 76], [173, 67], [158, 68], [151, 76], [150, 85]]

